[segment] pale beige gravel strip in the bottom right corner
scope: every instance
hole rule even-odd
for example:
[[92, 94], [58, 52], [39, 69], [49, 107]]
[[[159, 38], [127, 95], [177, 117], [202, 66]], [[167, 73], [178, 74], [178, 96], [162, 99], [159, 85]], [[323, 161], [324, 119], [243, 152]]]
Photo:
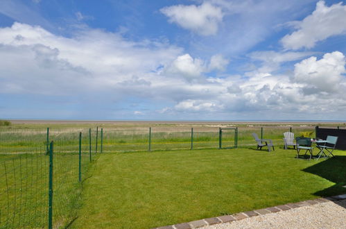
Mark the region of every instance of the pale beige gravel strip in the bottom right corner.
[[343, 228], [346, 229], [346, 199], [328, 201], [269, 213], [201, 229], [223, 228]]

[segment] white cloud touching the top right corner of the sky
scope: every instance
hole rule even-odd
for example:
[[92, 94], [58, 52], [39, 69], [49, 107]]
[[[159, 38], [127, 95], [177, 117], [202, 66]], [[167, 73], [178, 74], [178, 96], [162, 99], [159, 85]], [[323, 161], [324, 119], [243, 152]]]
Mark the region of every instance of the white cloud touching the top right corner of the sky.
[[319, 41], [333, 35], [346, 33], [346, 6], [336, 3], [330, 7], [325, 1], [318, 1], [316, 9], [302, 22], [295, 23], [299, 29], [286, 35], [281, 42], [286, 49], [311, 49]]

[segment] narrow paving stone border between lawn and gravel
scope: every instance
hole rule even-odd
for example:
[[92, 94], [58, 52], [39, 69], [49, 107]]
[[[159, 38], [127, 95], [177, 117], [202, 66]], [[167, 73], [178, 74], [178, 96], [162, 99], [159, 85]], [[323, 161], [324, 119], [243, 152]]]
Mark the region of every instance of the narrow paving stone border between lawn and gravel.
[[261, 214], [270, 214], [275, 212], [282, 212], [286, 210], [290, 210], [297, 207], [304, 207], [309, 205], [315, 205], [318, 203], [325, 203], [329, 201], [341, 201], [346, 199], [346, 194], [338, 195], [338, 196], [330, 196], [326, 198], [316, 198], [314, 200], [308, 201], [300, 201], [298, 203], [287, 203], [286, 205], [277, 205], [275, 207], [267, 207], [259, 210], [252, 210], [248, 212], [239, 212], [232, 215], [223, 215], [220, 217], [212, 217], [207, 219], [200, 219], [196, 221], [191, 221], [188, 223], [178, 223], [171, 226], [163, 226], [159, 228], [153, 229], [194, 229], [201, 228], [208, 225], [214, 225], [216, 223], [228, 223], [231, 221], [242, 220], [250, 217], [255, 217]]

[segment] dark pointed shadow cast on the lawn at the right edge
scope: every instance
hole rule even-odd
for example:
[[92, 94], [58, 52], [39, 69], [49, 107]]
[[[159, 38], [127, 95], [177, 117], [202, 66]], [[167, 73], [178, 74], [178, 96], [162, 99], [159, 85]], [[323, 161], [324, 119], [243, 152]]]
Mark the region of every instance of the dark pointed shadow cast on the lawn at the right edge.
[[[313, 173], [335, 183], [335, 185], [327, 189], [315, 192], [315, 196], [336, 196], [346, 193], [346, 188], [343, 187], [346, 185], [346, 156], [336, 155], [333, 158], [322, 160], [320, 163], [314, 164], [302, 171]], [[337, 201], [336, 203], [339, 202], [340, 206], [346, 208], [343, 201]]]

